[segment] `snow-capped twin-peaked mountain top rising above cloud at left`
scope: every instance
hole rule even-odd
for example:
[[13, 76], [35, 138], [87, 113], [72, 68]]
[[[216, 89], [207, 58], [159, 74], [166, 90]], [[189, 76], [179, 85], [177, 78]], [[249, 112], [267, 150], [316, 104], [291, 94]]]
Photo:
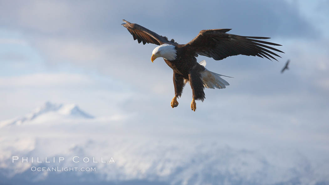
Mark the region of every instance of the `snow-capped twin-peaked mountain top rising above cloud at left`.
[[51, 102], [46, 102], [24, 116], [1, 121], [0, 128], [8, 125], [22, 125], [31, 121], [46, 122], [59, 118], [91, 119], [94, 117], [82, 111], [76, 104], [53, 104]]

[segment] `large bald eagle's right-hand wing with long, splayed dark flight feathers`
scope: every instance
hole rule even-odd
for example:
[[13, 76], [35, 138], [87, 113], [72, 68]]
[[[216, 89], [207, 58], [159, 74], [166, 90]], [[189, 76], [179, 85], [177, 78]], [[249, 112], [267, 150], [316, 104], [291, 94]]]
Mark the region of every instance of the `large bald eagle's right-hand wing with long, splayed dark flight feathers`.
[[230, 30], [231, 29], [201, 30], [199, 35], [184, 45], [184, 47], [194, 51], [196, 54], [211, 57], [215, 60], [221, 60], [234, 55], [258, 56], [261, 58], [270, 57], [273, 59], [275, 58], [272, 55], [280, 57], [268, 49], [284, 53], [278, 49], [264, 45], [281, 46], [280, 44], [256, 40], [267, 39], [269, 37], [226, 34], [226, 32]]

